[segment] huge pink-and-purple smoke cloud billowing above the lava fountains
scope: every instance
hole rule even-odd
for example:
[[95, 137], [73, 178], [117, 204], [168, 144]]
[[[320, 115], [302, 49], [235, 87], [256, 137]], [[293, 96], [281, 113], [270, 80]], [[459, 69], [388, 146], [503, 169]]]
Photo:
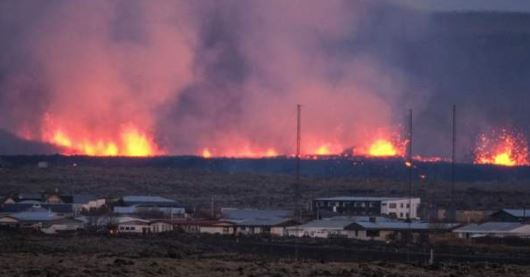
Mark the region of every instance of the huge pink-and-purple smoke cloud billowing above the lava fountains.
[[[0, 128], [42, 139], [133, 122], [171, 154], [362, 146], [404, 127], [448, 156], [487, 129], [528, 129], [530, 16], [432, 14], [392, 1], [2, 1]], [[0, 149], [2, 150], [2, 149]], [[467, 157], [469, 158], [469, 157]]]

